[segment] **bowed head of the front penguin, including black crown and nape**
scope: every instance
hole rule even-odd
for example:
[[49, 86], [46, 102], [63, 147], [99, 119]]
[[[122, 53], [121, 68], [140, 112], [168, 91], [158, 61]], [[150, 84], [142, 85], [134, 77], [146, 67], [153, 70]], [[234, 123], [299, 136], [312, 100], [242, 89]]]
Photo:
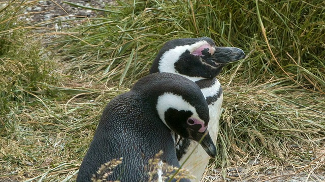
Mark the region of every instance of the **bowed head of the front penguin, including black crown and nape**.
[[196, 83], [172, 73], [153, 73], [141, 78], [131, 92], [141, 95], [142, 100], [149, 103], [151, 112], [171, 131], [200, 142], [205, 151], [215, 157], [216, 148], [207, 129], [208, 104]]

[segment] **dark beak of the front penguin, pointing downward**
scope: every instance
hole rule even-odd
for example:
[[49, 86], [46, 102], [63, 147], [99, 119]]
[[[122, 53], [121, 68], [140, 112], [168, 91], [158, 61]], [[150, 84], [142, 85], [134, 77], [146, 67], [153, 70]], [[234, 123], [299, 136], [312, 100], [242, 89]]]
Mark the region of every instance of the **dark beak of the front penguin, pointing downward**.
[[212, 142], [211, 136], [209, 131], [206, 130], [205, 132], [196, 132], [196, 134], [192, 138], [194, 141], [197, 141], [201, 144], [205, 152], [212, 158], [215, 158], [217, 155], [217, 149]]

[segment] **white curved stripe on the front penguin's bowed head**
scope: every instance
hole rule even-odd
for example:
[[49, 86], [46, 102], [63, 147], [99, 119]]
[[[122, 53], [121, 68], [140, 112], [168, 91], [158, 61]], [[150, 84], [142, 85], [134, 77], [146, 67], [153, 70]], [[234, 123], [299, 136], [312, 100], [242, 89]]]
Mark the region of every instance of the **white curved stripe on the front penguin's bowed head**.
[[[200, 119], [196, 109], [190, 105], [188, 102], [186, 102], [181, 96], [174, 95], [172, 93], [165, 93], [158, 97], [156, 109], [159, 115], [159, 118], [165, 123], [167, 127], [168, 124], [165, 120], [165, 112], [169, 109], [173, 108], [178, 111], [191, 111], [193, 115], [192, 118]], [[170, 128], [170, 127], [169, 127]]]

